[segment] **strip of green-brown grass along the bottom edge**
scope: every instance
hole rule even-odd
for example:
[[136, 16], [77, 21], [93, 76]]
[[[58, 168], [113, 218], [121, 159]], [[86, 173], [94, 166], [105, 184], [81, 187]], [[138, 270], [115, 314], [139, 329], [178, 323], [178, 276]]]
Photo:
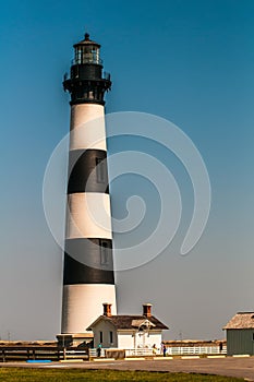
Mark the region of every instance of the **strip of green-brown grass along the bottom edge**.
[[240, 382], [243, 379], [147, 371], [0, 368], [2, 382]]

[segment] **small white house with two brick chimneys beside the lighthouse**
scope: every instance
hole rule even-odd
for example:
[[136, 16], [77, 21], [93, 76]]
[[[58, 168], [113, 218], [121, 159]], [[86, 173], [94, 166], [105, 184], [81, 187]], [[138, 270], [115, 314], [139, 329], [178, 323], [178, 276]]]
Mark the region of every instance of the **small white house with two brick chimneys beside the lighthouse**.
[[144, 303], [138, 315], [112, 315], [111, 305], [104, 303], [104, 314], [87, 330], [94, 333], [94, 347], [138, 349], [155, 346], [159, 349], [162, 331], [168, 326], [152, 315], [150, 303]]

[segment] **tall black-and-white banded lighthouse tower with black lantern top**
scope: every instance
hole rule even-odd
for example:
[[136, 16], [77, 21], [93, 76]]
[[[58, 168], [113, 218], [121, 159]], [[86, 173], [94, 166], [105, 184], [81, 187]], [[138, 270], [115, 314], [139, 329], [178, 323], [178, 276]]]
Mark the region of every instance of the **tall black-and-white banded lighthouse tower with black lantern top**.
[[89, 35], [74, 45], [70, 77], [71, 135], [63, 270], [62, 334], [85, 333], [102, 303], [117, 314], [108, 187], [100, 45]]

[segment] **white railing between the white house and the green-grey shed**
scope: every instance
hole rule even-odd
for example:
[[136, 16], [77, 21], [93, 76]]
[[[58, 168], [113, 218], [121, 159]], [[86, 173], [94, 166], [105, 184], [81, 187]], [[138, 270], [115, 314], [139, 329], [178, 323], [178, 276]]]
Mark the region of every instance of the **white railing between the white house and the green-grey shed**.
[[178, 355], [225, 355], [227, 354], [227, 346], [220, 350], [219, 346], [172, 346], [167, 347], [167, 356]]

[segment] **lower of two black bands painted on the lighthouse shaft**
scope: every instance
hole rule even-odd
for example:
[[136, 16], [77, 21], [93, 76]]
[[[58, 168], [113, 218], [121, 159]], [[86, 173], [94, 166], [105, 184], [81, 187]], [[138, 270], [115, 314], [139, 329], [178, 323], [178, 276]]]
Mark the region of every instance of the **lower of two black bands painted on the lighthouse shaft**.
[[113, 260], [110, 239], [66, 239], [63, 285], [112, 284]]

